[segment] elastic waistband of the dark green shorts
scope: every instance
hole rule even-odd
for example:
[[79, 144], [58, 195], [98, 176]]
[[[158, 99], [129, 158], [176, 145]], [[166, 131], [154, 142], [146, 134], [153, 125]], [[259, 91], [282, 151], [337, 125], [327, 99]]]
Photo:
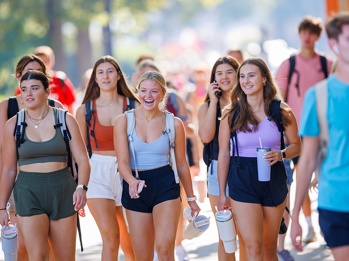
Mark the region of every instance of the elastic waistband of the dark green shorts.
[[53, 172], [19, 171], [16, 182], [25, 183], [26, 185], [54, 185], [68, 181], [72, 177], [67, 167]]

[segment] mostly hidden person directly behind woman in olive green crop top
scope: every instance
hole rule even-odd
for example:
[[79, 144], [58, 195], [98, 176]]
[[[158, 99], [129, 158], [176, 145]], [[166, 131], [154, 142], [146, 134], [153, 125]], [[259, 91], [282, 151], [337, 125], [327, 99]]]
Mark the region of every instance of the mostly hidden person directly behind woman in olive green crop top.
[[[28, 71], [36, 70], [42, 73], [47, 73], [47, 68], [43, 60], [35, 55], [26, 55], [19, 59], [15, 68], [15, 77], [18, 80], [18, 84], [20, 83], [21, 77], [24, 73]], [[47, 74], [46, 74], [47, 75]], [[48, 75], [47, 75], [48, 76]], [[61, 102], [51, 100], [48, 98], [48, 104], [52, 107], [63, 108]], [[21, 96], [17, 95], [14, 97], [6, 98], [0, 102], [0, 140], [2, 141], [3, 129], [7, 120], [16, 116], [17, 112], [24, 109], [23, 103], [21, 101]], [[2, 162], [2, 142], [0, 142], [0, 172], [2, 172], [3, 162]], [[1, 177], [1, 173], [0, 173]], [[7, 203], [7, 211], [9, 212], [9, 216], [11, 222], [13, 224], [17, 223], [16, 217], [16, 207], [15, 200], [13, 197], [13, 192], [11, 193], [10, 200]], [[50, 255], [51, 255], [50, 251]], [[18, 251], [17, 251], [18, 260], [26, 261], [28, 260], [27, 249], [24, 245], [21, 232], [18, 230]], [[52, 256], [51, 256], [52, 260]]]

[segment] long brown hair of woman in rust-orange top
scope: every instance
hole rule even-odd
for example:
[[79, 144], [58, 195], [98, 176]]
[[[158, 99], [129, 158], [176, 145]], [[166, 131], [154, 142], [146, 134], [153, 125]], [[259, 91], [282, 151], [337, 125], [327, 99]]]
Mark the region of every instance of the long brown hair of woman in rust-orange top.
[[120, 75], [120, 79], [117, 82], [118, 94], [124, 95], [130, 99], [133, 99], [137, 102], [140, 102], [139, 99], [137, 98], [137, 96], [134, 94], [134, 91], [132, 90], [132, 88], [127, 84], [124, 73], [121, 71], [121, 68], [120, 68], [118, 62], [116, 61], [116, 59], [109, 56], [109, 55], [106, 55], [106, 56], [99, 58], [95, 62], [95, 66], [93, 68], [93, 71], [92, 71], [92, 74], [90, 77], [90, 81], [86, 87], [85, 96], [84, 96], [82, 103], [93, 101], [99, 97], [99, 94], [100, 94], [99, 86], [95, 82], [96, 70], [97, 70], [97, 66], [100, 65], [101, 63], [104, 63], [104, 62], [110, 62], [112, 65], [114, 65], [117, 73]]

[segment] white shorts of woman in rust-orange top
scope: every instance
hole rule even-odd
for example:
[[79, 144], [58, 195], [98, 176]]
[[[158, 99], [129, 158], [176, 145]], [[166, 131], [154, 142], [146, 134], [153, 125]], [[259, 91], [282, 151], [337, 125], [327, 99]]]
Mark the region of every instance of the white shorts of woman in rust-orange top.
[[121, 206], [122, 186], [116, 157], [92, 154], [87, 199], [101, 198]]

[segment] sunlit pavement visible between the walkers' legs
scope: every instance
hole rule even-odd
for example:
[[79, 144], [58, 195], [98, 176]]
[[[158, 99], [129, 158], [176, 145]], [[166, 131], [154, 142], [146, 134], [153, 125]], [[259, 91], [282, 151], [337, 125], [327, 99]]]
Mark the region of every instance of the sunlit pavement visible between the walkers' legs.
[[[295, 183], [294, 183], [295, 184]], [[294, 186], [294, 185], [293, 185]], [[291, 203], [294, 201], [294, 188], [291, 187]], [[317, 207], [317, 194], [311, 194], [312, 200], [312, 209]], [[194, 238], [192, 240], [183, 240], [182, 245], [187, 250], [188, 256], [191, 261], [217, 261], [217, 249], [218, 249], [218, 232], [217, 226], [214, 221], [213, 214], [209, 205], [209, 201], [206, 198], [204, 203], [199, 203], [202, 211], [201, 215], [206, 217], [211, 217], [210, 227], [204, 232], [201, 236]], [[291, 207], [292, 208], [292, 207]], [[77, 239], [77, 261], [100, 261], [101, 260], [101, 251], [102, 251], [102, 240], [99, 234], [98, 228], [95, 224], [95, 221], [90, 214], [88, 208], [86, 207], [86, 217], [80, 218], [81, 222], [81, 231], [82, 231], [82, 240], [84, 251], [81, 253], [79, 239]], [[317, 211], [314, 211], [312, 214], [312, 220], [317, 233], [317, 241], [304, 246], [303, 252], [297, 252], [293, 249], [291, 240], [289, 238], [289, 231], [287, 231], [285, 248], [290, 250], [291, 255], [294, 257], [295, 261], [334, 261], [333, 255], [322, 236], [319, 234], [319, 226], [317, 222]], [[301, 225], [303, 228], [306, 228], [306, 221], [304, 216], [301, 214], [300, 217]], [[306, 236], [307, 230], [303, 231], [303, 238]], [[0, 248], [2, 249], [2, 248]], [[238, 251], [236, 252], [238, 260]], [[176, 260], [177, 257], [175, 257]], [[3, 261], [3, 252], [0, 251], [0, 261]], [[124, 261], [124, 254], [120, 249], [119, 260]], [[279, 258], [282, 261], [282, 258]]]

